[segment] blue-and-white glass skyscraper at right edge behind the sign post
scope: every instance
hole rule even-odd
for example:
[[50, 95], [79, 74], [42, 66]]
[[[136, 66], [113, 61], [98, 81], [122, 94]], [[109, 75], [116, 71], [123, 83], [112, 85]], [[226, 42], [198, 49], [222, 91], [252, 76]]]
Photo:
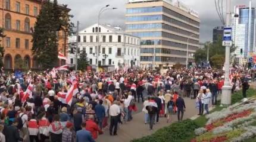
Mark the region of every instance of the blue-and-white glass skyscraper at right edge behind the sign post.
[[235, 54], [237, 58], [247, 58], [249, 53], [255, 52], [255, 8], [236, 5], [232, 20], [232, 38], [237, 47]]

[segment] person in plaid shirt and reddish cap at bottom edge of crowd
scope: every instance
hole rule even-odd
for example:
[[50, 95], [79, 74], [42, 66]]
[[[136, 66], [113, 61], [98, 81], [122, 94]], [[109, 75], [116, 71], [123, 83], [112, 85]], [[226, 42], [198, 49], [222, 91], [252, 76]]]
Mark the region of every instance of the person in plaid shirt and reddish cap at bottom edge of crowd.
[[76, 133], [73, 130], [73, 123], [67, 122], [66, 127], [63, 130], [62, 142], [74, 142]]

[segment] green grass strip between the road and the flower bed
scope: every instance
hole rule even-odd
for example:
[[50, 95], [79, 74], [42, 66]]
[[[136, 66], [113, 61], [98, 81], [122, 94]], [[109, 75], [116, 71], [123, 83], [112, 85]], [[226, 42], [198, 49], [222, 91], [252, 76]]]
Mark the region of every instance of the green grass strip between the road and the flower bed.
[[[252, 97], [256, 96], [256, 90], [255, 89], [249, 89], [247, 92], [247, 96]], [[235, 104], [236, 102], [240, 102], [242, 96], [242, 91], [236, 92], [232, 94], [232, 104]], [[220, 107], [220, 101], [218, 102], [218, 105], [215, 106], [215, 108], [211, 111], [220, 111], [225, 107]], [[132, 142], [170, 142], [170, 141], [176, 141], [176, 142], [188, 142], [191, 141], [193, 138], [196, 137], [194, 130], [199, 127], [204, 127], [207, 122], [207, 118], [205, 118], [205, 115], [202, 115], [195, 120], [184, 120], [182, 122], [175, 122], [168, 127], [161, 128], [160, 130], [157, 130], [154, 134], [138, 138], [135, 140], [132, 140]], [[256, 122], [255, 122], [256, 125]], [[252, 138], [251, 140], [248, 140], [249, 142], [255, 142], [256, 138]]]

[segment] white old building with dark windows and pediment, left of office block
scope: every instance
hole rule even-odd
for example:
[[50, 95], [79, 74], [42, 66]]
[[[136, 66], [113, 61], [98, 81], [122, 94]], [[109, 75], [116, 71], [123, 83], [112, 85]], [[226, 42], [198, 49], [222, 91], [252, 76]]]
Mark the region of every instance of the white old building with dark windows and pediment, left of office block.
[[[70, 42], [76, 41], [76, 37], [70, 37]], [[140, 66], [139, 37], [126, 34], [120, 27], [111, 27], [110, 24], [99, 25], [99, 66], [120, 67]], [[94, 68], [96, 66], [96, 47], [98, 47], [98, 24], [90, 25], [79, 31], [79, 51], [85, 51]], [[68, 54], [68, 63], [75, 64], [74, 54]]]

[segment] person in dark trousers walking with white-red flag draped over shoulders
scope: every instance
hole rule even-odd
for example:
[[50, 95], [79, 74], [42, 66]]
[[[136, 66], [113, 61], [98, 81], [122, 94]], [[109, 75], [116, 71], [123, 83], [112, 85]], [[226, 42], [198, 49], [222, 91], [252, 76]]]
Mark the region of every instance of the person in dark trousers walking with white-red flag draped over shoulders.
[[155, 122], [155, 116], [158, 112], [157, 103], [154, 101], [154, 98], [150, 97], [148, 101], [148, 105], [146, 106], [146, 110], [149, 115], [149, 129], [153, 130], [153, 125]]

